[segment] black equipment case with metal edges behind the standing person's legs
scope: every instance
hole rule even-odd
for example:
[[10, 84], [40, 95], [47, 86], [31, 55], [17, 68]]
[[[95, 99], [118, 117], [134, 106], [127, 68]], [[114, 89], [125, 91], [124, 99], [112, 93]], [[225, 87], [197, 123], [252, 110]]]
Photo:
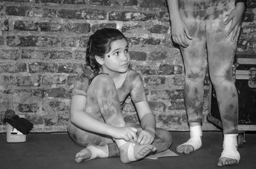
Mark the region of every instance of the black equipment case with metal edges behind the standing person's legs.
[[[233, 75], [239, 100], [237, 136], [238, 146], [245, 143], [244, 132], [256, 131], [256, 55], [236, 55]], [[221, 118], [215, 91], [210, 83], [209, 114], [207, 120], [221, 128]]]

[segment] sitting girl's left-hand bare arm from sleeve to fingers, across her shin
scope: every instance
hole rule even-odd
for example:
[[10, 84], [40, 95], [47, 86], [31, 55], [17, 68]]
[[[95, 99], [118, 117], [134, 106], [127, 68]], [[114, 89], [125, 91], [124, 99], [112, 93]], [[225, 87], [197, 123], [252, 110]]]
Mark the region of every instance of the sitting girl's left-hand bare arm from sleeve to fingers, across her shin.
[[124, 139], [125, 141], [136, 140], [136, 132], [134, 128], [123, 127], [116, 128], [107, 123], [98, 121], [92, 115], [85, 112], [86, 97], [81, 95], [72, 96], [70, 121], [81, 129], [86, 129], [102, 135], [109, 135], [116, 139]]

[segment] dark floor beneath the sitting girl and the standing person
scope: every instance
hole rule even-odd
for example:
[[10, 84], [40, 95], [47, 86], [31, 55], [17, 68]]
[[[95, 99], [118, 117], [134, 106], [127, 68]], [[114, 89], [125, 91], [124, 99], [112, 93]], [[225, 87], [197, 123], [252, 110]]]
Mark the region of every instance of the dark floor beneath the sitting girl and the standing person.
[[[187, 140], [188, 132], [172, 132], [173, 144], [170, 149], [175, 152], [179, 143]], [[236, 166], [224, 168], [254, 169], [256, 167], [256, 133], [246, 133], [246, 143], [239, 149], [241, 161]], [[82, 147], [76, 145], [67, 133], [29, 133], [24, 143], [7, 143], [4, 133], [0, 134], [0, 168], [3, 169], [135, 169], [135, 168], [218, 168], [216, 162], [220, 157], [222, 146], [221, 132], [204, 132], [203, 146], [192, 154], [179, 154], [179, 157], [143, 159], [130, 164], [120, 163], [119, 158], [93, 159], [75, 163], [74, 156]]]

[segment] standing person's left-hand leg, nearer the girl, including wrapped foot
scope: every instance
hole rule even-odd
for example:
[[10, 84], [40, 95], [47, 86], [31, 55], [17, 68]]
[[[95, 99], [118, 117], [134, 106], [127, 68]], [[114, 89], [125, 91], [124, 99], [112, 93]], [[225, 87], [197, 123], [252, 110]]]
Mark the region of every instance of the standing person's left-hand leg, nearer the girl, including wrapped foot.
[[[186, 11], [185, 11], [186, 13]], [[189, 47], [181, 48], [185, 67], [184, 100], [188, 115], [190, 138], [177, 147], [177, 152], [189, 154], [202, 146], [202, 106], [204, 99], [204, 80], [207, 71], [207, 56], [205, 53], [205, 22], [191, 17], [191, 11], [186, 16], [186, 22], [192, 40]]]

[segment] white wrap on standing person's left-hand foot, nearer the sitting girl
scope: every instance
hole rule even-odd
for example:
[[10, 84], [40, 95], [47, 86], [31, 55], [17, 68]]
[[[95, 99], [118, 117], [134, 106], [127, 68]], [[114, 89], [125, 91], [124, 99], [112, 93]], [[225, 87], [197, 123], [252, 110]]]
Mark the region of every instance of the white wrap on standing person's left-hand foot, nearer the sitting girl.
[[194, 148], [194, 151], [196, 151], [202, 146], [201, 126], [189, 126], [189, 135], [190, 135], [189, 140], [185, 143], [182, 143], [181, 145], [191, 145]]

